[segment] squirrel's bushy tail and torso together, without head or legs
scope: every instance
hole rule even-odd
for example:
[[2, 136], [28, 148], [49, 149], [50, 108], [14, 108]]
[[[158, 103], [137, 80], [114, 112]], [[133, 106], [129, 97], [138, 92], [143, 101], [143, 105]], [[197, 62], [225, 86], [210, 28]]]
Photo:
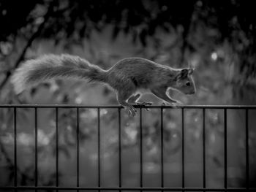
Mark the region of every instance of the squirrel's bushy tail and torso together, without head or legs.
[[43, 55], [26, 61], [12, 76], [15, 92], [55, 78], [80, 78], [89, 82], [105, 82], [120, 91], [126, 88], [151, 88], [169, 85], [176, 69], [145, 58], [124, 58], [105, 71], [75, 55]]

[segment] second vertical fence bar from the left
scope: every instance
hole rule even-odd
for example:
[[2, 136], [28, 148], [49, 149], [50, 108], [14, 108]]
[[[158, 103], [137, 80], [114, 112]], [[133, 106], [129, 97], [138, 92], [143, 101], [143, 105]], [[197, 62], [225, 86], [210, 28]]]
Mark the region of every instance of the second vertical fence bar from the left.
[[[38, 184], [37, 107], [34, 107], [34, 185]], [[37, 191], [37, 190], [35, 190]]]

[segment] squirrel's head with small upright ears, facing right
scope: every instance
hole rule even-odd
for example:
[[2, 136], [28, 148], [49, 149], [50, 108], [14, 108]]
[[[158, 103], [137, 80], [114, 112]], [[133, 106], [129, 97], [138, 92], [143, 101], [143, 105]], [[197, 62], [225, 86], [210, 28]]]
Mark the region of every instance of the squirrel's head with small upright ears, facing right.
[[192, 78], [193, 71], [194, 69], [192, 68], [185, 68], [179, 70], [176, 74], [176, 84], [173, 86], [173, 88], [185, 94], [194, 94], [195, 82]]

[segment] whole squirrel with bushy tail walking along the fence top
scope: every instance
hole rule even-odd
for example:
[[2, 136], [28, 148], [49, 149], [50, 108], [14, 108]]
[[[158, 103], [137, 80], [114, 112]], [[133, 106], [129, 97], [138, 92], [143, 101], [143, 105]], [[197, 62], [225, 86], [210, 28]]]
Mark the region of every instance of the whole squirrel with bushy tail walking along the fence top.
[[103, 82], [116, 90], [117, 101], [129, 115], [135, 116], [133, 105], [151, 105], [139, 102], [141, 89], [146, 89], [167, 104], [181, 104], [172, 99], [167, 91], [171, 88], [185, 94], [195, 93], [192, 68], [173, 69], [145, 58], [124, 58], [108, 70], [89, 63], [76, 55], [42, 55], [26, 61], [11, 77], [16, 93], [22, 92], [45, 80], [53, 78], [80, 78], [89, 82]]

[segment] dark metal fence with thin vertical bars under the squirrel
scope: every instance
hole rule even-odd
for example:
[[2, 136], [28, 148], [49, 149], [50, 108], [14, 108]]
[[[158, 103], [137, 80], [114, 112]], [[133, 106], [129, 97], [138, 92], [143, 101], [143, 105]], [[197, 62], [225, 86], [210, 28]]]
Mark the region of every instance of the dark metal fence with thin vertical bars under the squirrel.
[[[11, 108], [13, 109], [14, 114], [14, 184], [13, 186], [0, 186], [0, 190], [7, 190], [7, 191], [24, 191], [24, 190], [44, 190], [44, 191], [52, 191], [52, 190], [87, 190], [87, 191], [256, 191], [256, 188], [249, 188], [249, 128], [248, 128], [248, 111], [249, 110], [255, 110], [256, 106], [214, 106], [214, 105], [183, 105], [178, 106], [178, 110], [181, 110], [181, 187], [180, 188], [167, 188], [164, 185], [164, 158], [163, 158], [163, 137], [164, 137], [164, 131], [163, 131], [163, 110], [164, 109], [170, 109], [173, 108], [171, 106], [149, 106], [149, 107], [143, 107], [143, 106], [135, 106], [138, 108], [138, 115], [139, 115], [139, 123], [140, 123], [140, 137], [139, 137], [139, 145], [140, 145], [140, 186], [139, 187], [122, 187], [122, 157], [121, 157], [121, 109], [120, 106], [79, 106], [79, 105], [32, 105], [32, 104], [23, 104], [23, 105], [15, 105], [15, 104], [1, 104], [0, 109], [4, 108]], [[35, 122], [35, 139], [34, 139], [34, 145], [35, 145], [35, 153], [34, 153], [34, 161], [35, 161], [35, 169], [34, 169], [34, 177], [35, 182], [34, 186], [20, 186], [18, 185], [17, 180], [17, 109], [18, 108], [31, 108], [34, 109], [34, 122]], [[39, 186], [38, 185], [38, 146], [37, 146], [37, 111], [40, 108], [51, 108], [55, 110], [55, 118], [56, 118], [56, 185], [55, 186]], [[59, 138], [58, 138], [58, 130], [59, 130], [59, 109], [60, 108], [73, 108], [76, 110], [76, 187], [61, 187], [59, 186]], [[98, 162], [97, 162], [97, 172], [98, 172], [98, 178], [97, 178], [97, 187], [80, 187], [80, 162], [79, 162], [79, 113], [81, 108], [86, 109], [96, 109], [97, 110], [97, 155], [98, 155]], [[100, 139], [100, 110], [101, 109], [116, 109], [118, 110], [118, 187], [102, 187], [101, 185], [101, 139]], [[160, 110], [160, 139], [161, 139], [161, 159], [160, 159], [160, 167], [161, 167], [161, 184], [159, 187], [154, 188], [148, 188], [143, 186], [143, 123], [142, 123], [142, 113], [143, 108], [154, 108]], [[202, 188], [187, 188], [185, 187], [185, 158], [184, 158], [184, 113], [186, 112], [186, 109], [197, 109], [202, 110], [203, 112], [203, 187]], [[224, 115], [224, 188], [207, 188], [206, 187], [206, 110], [208, 109], [217, 109], [217, 110], [223, 110]], [[245, 117], [245, 141], [246, 141], [246, 187], [244, 188], [228, 188], [227, 187], [227, 110], [244, 110], [244, 117]], [[1, 175], [3, 177], [3, 175]]]

